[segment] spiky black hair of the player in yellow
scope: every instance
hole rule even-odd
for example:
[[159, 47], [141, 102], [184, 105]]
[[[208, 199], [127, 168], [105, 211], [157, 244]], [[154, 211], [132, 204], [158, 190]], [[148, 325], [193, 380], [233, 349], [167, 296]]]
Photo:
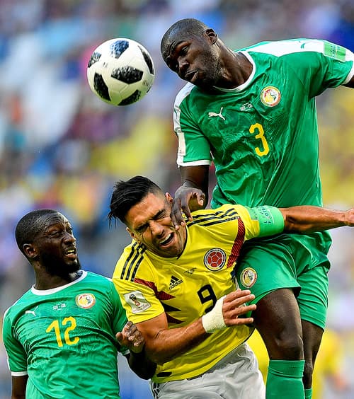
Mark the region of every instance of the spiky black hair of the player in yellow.
[[156, 183], [144, 176], [135, 176], [127, 181], [119, 180], [116, 182], [110, 198], [109, 224], [112, 224], [113, 219], [119, 219], [125, 223], [127, 212], [146, 197], [149, 192], [164, 194]]

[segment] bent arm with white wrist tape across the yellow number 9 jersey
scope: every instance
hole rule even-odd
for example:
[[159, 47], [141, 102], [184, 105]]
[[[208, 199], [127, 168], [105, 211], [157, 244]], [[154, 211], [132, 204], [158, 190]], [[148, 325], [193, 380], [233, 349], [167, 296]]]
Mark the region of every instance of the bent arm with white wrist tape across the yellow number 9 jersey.
[[232, 325], [252, 323], [253, 318], [239, 318], [239, 316], [256, 309], [256, 305], [242, 306], [253, 299], [251, 291], [238, 289], [220, 298], [212, 311], [180, 328], [169, 329], [166, 313], [137, 323], [137, 327], [144, 335], [145, 349], [149, 358], [158, 364], [169, 362], [198, 345], [212, 332]]

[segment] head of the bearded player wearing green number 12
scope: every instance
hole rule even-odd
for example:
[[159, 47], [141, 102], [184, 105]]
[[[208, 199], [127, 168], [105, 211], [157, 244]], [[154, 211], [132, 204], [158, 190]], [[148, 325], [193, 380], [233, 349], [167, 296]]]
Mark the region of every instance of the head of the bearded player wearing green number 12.
[[29, 262], [48, 274], [65, 278], [80, 269], [72, 226], [60, 212], [38, 209], [25, 214], [18, 221], [15, 236]]

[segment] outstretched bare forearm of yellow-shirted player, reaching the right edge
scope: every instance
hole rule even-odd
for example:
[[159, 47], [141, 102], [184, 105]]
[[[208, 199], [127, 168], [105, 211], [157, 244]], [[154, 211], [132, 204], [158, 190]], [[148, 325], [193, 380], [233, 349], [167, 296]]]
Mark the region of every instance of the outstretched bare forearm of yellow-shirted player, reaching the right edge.
[[301, 206], [280, 208], [284, 219], [284, 231], [312, 233], [341, 226], [354, 226], [354, 208], [336, 211], [321, 207]]

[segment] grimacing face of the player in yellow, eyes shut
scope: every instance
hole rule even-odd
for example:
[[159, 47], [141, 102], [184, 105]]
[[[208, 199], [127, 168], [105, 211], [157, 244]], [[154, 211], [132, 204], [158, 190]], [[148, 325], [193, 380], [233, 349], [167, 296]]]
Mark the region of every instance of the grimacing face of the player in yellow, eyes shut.
[[164, 196], [149, 192], [125, 216], [130, 236], [163, 258], [181, 255], [185, 246], [185, 226], [177, 231], [173, 226], [170, 217], [171, 202], [169, 193]]

